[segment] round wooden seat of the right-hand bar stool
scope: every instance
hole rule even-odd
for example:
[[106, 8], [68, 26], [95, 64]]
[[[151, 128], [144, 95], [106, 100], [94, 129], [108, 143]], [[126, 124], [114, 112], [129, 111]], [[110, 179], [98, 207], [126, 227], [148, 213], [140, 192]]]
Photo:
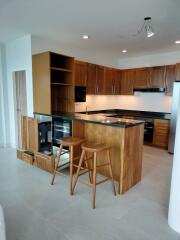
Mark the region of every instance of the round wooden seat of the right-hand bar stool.
[[94, 142], [85, 142], [81, 145], [82, 149], [87, 152], [101, 152], [110, 149], [110, 146], [107, 146], [102, 143], [94, 143]]

